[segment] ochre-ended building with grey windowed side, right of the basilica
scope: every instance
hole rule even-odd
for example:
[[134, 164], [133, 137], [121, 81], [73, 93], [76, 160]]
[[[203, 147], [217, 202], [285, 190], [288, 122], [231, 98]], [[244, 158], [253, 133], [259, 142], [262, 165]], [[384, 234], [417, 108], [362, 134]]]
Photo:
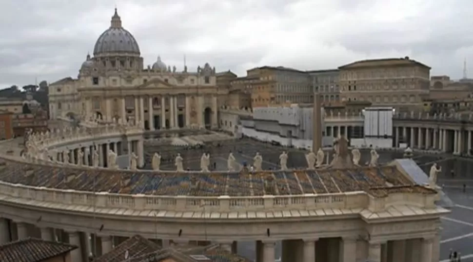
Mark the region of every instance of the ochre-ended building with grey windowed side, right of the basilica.
[[253, 107], [313, 102], [312, 85], [305, 71], [283, 66], [262, 66], [248, 70], [247, 75], [259, 79], [252, 85]]

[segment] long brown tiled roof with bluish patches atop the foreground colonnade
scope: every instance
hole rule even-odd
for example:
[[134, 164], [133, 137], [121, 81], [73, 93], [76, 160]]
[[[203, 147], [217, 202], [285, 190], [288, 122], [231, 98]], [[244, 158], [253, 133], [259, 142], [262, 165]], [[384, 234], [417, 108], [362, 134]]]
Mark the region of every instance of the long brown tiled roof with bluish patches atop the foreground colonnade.
[[262, 196], [365, 191], [435, 194], [396, 166], [261, 172], [154, 172], [44, 165], [5, 160], [0, 181], [78, 191], [161, 196]]

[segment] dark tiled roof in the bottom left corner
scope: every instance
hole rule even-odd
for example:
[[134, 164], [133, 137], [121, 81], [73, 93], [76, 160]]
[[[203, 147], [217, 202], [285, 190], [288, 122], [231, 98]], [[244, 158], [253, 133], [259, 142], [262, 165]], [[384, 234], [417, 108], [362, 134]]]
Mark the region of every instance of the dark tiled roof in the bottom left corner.
[[40, 262], [64, 255], [75, 245], [27, 238], [0, 245], [1, 262]]

